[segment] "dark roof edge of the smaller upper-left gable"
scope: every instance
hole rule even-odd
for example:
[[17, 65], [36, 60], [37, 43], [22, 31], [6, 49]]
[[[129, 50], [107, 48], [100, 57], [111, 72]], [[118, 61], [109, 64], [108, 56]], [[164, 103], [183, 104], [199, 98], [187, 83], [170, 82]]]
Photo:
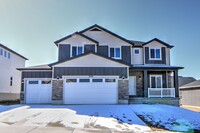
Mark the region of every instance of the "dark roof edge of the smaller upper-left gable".
[[72, 33], [72, 34], [70, 34], [70, 35], [68, 35], [68, 36], [66, 36], [66, 37], [63, 37], [63, 38], [61, 38], [61, 39], [55, 41], [54, 43], [58, 46], [58, 43], [59, 43], [59, 42], [62, 42], [62, 41], [64, 41], [64, 40], [68, 39], [68, 38], [71, 38], [71, 37], [73, 37], [74, 35], [80, 35], [81, 37], [83, 37], [83, 38], [85, 38], [85, 39], [87, 39], [87, 40], [90, 40], [90, 41], [92, 41], [92, 42], [94, 42], [94, 43], [96, 43], [96, 44], [99, 44], [99, 42], [97, 42], [96, 40], [94, 40], [94, 39], [92, 39], [92, 38], [90, 38], [90, 37], [88, 37], [88, 36], [85, 36], [85, 35], [81, 34], [80, 32]]

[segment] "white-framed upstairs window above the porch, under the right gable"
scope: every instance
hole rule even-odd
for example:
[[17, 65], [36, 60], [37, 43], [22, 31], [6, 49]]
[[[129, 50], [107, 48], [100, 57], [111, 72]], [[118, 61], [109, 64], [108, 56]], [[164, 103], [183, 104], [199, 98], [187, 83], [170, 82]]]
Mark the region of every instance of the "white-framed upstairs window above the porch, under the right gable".
[[161, 49], [149, 48], [149, 57], [151, 60], [161, 60]]

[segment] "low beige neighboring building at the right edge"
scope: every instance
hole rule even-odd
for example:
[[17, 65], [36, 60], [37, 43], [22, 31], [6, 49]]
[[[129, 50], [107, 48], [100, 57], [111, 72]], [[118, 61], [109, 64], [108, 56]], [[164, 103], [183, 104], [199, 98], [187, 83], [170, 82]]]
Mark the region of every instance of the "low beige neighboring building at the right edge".
[[180, 98], [182, 105], [200, 107], [200, 80], [181, 86]]

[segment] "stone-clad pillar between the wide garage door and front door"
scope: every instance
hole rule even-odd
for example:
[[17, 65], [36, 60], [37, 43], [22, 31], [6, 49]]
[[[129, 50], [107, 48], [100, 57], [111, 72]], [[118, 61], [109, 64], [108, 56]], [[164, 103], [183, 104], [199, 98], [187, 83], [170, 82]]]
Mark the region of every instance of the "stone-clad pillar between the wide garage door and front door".
[[118, 103], [128, 104], [129, 99], [129, 81], [118, 80]]

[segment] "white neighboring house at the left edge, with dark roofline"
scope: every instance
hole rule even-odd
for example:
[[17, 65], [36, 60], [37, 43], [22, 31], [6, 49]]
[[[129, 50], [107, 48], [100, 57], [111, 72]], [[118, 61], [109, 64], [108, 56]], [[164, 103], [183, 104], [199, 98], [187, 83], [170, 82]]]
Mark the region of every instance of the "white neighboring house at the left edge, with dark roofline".
[[0, 44], [0, 101], [19, 100], [21, 72], [27, 58]]

